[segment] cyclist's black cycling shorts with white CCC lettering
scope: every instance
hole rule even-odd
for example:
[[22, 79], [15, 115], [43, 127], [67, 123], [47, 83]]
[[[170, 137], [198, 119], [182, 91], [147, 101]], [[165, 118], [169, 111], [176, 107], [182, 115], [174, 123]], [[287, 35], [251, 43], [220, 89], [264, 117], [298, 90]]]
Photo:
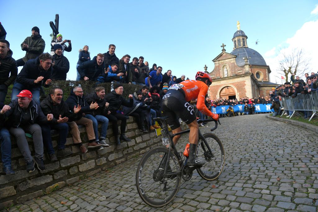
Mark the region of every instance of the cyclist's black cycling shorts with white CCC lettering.
[[185, 100], [183, 91], [170, 89], [162, 98], [162, 112], [168, 116], [167, 123], [172, 130], [180, 127], [179, 118], [186, 124], [197, 120], [193, 106]]

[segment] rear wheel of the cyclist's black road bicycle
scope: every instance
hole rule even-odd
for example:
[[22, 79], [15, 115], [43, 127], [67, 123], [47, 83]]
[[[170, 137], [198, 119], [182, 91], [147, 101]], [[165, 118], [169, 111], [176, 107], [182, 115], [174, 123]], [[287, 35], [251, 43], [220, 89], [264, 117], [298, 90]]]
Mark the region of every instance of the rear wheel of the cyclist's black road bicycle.
[[[176, 196], [181, 183], [181, 166], [176, 155], [170, 151], [169, 165], [171, 172], [177, 172], [173, 179], [163, 176], [164, 170], [159, 169], [164, 154], [168, 154], [166, 147], [155, 147], [146, 152], [140, 160], [136, 172], [136, 188], [141, 199], [152, 207], [167, 205]], [[167, 168], [168, 169], [168, 168]], [[160, 173], [159, 173], [160, 172]], [[168, 171], [166, 171], [168, 174]], [[159, 176], [159, 177], [158, 177]], [[167, 181], [166, 191], [164, 184], [158, 180]]]

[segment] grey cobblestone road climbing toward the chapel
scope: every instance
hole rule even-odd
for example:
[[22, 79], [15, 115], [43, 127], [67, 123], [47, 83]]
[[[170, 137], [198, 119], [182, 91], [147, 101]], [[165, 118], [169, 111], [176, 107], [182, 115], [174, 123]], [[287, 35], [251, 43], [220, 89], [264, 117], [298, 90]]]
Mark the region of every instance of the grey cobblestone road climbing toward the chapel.
[[[215, 133], [225, 147], [223, 173], [216, 181], [195, 173], [163, 208], [147, 206], [137, 194], [138, 157], [10, 211], [316, 212], [318, 134], [266, 115], [222, 118]], [[178, 147], [183, 150], [184, 145]]]

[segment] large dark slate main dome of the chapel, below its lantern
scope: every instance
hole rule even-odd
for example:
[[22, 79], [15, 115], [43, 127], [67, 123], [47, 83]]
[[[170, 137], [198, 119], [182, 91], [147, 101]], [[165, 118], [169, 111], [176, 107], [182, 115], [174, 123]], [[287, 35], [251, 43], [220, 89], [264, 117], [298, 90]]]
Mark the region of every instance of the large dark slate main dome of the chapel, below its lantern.
[[[239, 30], [242, 31], [242, 30]], [[266, 65], [266, 62], [262, 55], [255, 51], [254, 49], [250, 49], [247, 47], [240, 47], [234, 49], [231, 54], [236, 55], [236, 64], [242, 66], [245, 64], [243, 58], [248, 58], [248, 64], [250, 65]]]

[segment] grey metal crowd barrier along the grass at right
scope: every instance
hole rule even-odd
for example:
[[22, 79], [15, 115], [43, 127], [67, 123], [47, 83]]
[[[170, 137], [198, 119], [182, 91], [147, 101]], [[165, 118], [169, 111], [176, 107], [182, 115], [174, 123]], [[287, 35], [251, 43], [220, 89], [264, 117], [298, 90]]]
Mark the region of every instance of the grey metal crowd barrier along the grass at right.
[[285, 111], [289, 111], [289, 119], [296, 113], [301, 116], [299, 111], [303, 113], [307, 112], [307, 116], [310, 116], [309, 121], [316, 115], [318, 116], [318, 91], [310, 92], [309, 94], [297, 94], [295, 98], [290, 96], [282, 97], [280, 100], [280, 105], [284, 108], [283, 113], [280, 117], [283, 116]]

